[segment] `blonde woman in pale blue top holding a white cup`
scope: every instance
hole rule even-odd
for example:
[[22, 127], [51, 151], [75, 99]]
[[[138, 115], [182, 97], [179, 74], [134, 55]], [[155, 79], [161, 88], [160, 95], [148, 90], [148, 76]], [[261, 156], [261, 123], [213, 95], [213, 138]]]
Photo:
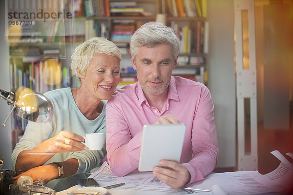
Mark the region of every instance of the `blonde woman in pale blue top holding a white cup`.
[[102, 99], [109, 99], [120, 81], [119, 49], [107, 39], [92, 38], [79, 45], [71, 59], [80, 86], [44, 94], [54, 114], [50, 123], [27, 124], [11, 156], [13, 168], [24, 172], [14, 177], [15, 182], [22, 175], [47, 183], [88, 172], [105, 157], [105, 145], [100, 151], [87, 150], [82, 136], [105, 133]]

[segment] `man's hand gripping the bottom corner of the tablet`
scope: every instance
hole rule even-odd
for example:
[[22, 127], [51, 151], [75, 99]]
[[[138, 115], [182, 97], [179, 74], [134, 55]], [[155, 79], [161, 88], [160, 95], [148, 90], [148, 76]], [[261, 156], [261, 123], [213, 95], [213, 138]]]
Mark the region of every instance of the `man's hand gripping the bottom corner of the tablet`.
[[171, 188], [178, 189], [189, 182], [190, 174], [184, 165], [170, 160], [161, 160], [160, 165], [154, 168], [153, 174]]

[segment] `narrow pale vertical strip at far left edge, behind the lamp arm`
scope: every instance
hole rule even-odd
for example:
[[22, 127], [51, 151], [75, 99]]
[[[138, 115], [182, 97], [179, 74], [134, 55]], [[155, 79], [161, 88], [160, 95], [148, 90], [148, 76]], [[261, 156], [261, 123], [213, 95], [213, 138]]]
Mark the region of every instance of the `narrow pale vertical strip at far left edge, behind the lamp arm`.
[[[1, 0], [0, 6], [0, 89], [9, 90], [9, 52], [8, 43], [4, 39], [5, 25], [5, 1]], [[10, 169], [10, 157], [12, 152], [11, 144], [11, 120], [6, 122], [6, 126], [3, 127], [2, 123], [10, 112], [11, 106], [7, 105], [7, 101], [0, 99], [0, 158], [4, 157], [4, 163], [2, 169]]]

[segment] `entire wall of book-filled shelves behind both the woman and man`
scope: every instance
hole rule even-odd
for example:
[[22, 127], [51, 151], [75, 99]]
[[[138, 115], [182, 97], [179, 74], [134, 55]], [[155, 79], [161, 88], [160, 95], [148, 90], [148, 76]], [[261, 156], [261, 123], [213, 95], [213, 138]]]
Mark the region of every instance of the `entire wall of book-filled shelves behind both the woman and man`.
[[[76, 87], [75, 75], [69, 68], [71, 54], [78, 44], [94, 36], [105, 37], [120, 48], [123, 59], [118, 88], [136, 82], [136, 72], [130, 62], [130, 37], [144, 23], [155, 21], [157, 14], [166, 15], [166, 25], [173, 28], [181, 40], [178, 65], [173, 75], [207, 84], [209, 23], [206, 20], [206, 3], [207, 0], [9, 1], [6, 5], [8, 13], [25, 11], [37, 14], [43, 10], [43, 16], [45, 12], [51, 14], [45, 21], [44, 17], [25, 19], [27, 25], [12, 25], [17, 21], [15, 18], [7, 20], [11, 21], [7, 26], [10, 90], [16, 91], [24, 86], [44, 93], [57, 88]], [[56, 18], [58, 15], [53, 13], [60, 13], [63, 17]], [[18, 20], [24, 20], [24, 16]], [[47, 60], [51, 59], [57, 63], [56, 68], [44, 68]], [[61, 79], [52, 81], [52, 75]], [[26, 124], [16, 115], [13, 117], [16, 142]]]

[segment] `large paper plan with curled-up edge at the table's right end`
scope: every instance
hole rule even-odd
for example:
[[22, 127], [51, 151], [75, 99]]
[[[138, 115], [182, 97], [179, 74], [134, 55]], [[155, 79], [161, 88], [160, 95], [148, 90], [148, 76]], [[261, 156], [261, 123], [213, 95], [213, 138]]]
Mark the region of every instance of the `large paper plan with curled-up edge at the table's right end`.
[[291, 163], [278, 151], [273, 151], [272, 154], [281, 163], [266, 175], [261, 175], [258, 171], [238, 171], [210, 174], [205, 180], [219, 184], [229, 195], [272, 195], [292, 190], [290, 182], [293, 180], [293, 170], [289, 167]]

